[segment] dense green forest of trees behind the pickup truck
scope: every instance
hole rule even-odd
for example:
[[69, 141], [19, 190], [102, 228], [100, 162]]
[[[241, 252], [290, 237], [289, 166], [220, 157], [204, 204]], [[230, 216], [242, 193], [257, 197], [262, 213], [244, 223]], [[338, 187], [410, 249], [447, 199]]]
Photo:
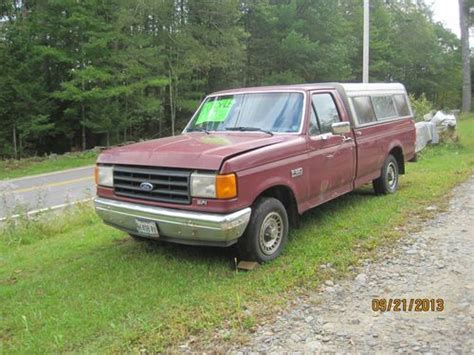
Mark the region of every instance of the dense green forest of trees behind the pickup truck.
[[[0, 158], [171, 135], [218, 89], [360, 81], [362, 3], [3, 0]], [[459, 39], [421, 0], [370, 11], [370, 80], [459, 107]]]

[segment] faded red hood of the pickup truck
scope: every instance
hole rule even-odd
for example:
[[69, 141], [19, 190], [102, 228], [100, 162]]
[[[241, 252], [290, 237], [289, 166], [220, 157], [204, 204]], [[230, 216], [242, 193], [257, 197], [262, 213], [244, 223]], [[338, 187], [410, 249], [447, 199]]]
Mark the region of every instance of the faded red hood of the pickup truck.
[[291, 136], [260, 132], [201, 132], [150, 140], [104, 151], [101, 164], [142, 165], [200, 170], [219, 170], [230, 157], [280, 143]]

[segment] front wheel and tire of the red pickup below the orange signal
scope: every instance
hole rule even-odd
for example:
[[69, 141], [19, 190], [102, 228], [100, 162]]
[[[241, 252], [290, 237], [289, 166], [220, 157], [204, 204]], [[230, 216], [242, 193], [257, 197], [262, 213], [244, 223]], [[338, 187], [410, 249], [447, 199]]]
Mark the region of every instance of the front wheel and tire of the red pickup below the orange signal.
[[273, 197], [258, 199], [242, 237], [237, 242], [241, 260], [263, 263], [277, 258], [288, 241], [288, 214]]

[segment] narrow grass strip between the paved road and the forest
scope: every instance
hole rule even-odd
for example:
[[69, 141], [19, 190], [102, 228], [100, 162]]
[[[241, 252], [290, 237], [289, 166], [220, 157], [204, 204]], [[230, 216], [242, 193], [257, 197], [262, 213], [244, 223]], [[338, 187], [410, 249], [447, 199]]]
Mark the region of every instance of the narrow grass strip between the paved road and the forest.
[[0, 180], [92, 165], [96, 159], [97, 153], [88, 151], [43, 158], [0, 160]]

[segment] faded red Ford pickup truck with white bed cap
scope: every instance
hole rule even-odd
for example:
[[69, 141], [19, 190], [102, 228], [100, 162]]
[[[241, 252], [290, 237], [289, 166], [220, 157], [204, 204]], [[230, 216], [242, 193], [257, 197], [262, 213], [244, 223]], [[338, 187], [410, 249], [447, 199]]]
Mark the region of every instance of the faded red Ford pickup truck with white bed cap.
[[397, 190], [415, 156], [401, 84], [303, 84], [209, 95], [183, 133], [103, 152], [95, 208], [135, 238], [282, 251], [310, 208], [373, 183]]

